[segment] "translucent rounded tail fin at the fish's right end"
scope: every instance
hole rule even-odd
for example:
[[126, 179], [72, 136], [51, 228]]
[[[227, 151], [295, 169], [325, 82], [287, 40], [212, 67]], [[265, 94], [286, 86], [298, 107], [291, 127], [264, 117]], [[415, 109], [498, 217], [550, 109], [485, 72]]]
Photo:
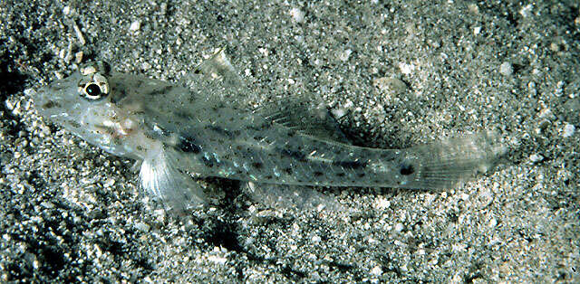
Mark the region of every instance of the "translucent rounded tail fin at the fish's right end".
[[[405, 187], [424, 189], [450, 188], [472, 179], [478, 172], [488, 172], [507, 152], [494, 132], [451, 138], [406, 150], [415, 168], [411, 169], [413, 173]], [[405, 175], [405, 171], [410, 169], [401, 166], [401, 175]]]

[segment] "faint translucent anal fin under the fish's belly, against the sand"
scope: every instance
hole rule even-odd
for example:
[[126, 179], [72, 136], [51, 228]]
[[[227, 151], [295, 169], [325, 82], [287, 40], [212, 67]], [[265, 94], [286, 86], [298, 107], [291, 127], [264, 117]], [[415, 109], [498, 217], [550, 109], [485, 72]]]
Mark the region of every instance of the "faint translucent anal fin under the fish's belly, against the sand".
[[330, 195], [316, 191], [313, 187], [300, 185], [271, 185], [247, 183], [244, 185], [252, 198], [272, 209], [291, 209], [299, 211], [347, 212], [343, 204]]

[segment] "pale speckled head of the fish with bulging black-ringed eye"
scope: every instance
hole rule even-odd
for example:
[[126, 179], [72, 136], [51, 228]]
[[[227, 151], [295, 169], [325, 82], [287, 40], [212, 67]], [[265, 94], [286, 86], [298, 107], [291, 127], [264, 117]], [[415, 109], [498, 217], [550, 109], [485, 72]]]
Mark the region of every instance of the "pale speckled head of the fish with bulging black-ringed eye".
[[111, 84], [114, 77], [108, 63], [87, 63], [36, 91], [34, 106], [43, 118], [111, 154], [124, 156], [120, 140], [129, 134], [134, 121], [114, 103], [114, 93], [125, 91]]

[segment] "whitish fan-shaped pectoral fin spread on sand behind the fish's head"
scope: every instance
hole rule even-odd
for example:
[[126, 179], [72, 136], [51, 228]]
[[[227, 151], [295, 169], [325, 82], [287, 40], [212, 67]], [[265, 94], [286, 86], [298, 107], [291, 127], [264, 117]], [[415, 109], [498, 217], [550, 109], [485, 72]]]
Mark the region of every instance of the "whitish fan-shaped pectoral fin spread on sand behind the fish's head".
[[200, 185], [191, 176], [179, 171], [174, 163], [165, 149], [150, 151], [140, 169], [143, 189], [175, 213], [205, 204], [206, 197]]

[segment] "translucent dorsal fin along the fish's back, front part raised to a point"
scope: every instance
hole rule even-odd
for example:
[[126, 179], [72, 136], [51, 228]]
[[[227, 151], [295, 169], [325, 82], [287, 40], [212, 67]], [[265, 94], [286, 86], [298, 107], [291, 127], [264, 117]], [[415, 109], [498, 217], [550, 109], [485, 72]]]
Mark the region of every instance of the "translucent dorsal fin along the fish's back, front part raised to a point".
[[[251, 110], [259, 116], [306, 135], [350, 144], [336, 120], [320, 101], [296, 96], [269, 99], [259, 97], [240, 78], [223, 48], [199, 64], [193, 74], [182, 80], [201, 96]], [[260, 102], [260, 106], [253, 107], [257, 102]]]

